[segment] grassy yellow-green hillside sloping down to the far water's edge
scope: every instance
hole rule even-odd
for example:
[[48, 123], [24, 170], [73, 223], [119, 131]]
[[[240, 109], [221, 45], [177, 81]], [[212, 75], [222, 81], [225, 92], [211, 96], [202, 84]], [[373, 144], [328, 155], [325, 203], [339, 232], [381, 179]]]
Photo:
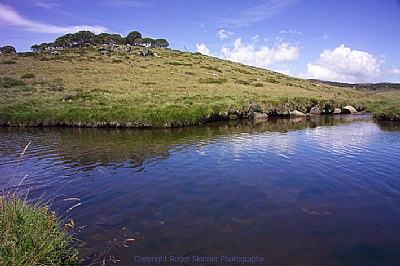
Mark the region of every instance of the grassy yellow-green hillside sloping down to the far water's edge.
[[171, 127], [353, 105], [399, 120], [400, 92], [357, 91], [198, 53], [71, 48], [0, 55], [2, 125]]

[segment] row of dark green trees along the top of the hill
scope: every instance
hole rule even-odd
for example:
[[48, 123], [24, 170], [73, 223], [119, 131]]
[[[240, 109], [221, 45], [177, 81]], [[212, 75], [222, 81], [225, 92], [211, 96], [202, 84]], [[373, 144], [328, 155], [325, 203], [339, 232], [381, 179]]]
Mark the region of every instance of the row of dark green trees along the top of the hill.
[[129, 44], [133, 46], [147, 46], [155, 48], [166, 48], [169, 46], [169, 43], [166, 39], [143, 38], [142, 34], [138, 31], [132, 31], [126, 37], [122, 37], [119, 34], [100, 33], [96, 35], [90, 31], [79, 31], [77, 33], [68, 33], [58, 37], [52, 43], [34, 44], [31, 46], [31, 50], [34, 52], [40, 52], [57, 48], [86, 47], [102, 44]]

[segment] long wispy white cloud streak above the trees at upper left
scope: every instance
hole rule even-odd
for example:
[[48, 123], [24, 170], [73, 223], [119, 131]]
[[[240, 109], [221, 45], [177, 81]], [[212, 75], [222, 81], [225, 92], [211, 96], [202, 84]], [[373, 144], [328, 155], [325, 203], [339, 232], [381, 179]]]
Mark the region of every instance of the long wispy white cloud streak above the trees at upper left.
[[50, 34], [66, 34], [78, 32], [81, 30], [88, 30], [94, 33], [102, 33], [108, 31], [107, 28], [100, 25], [55, 26], [34, 20], [29, 20], [19, 15], [11, 7], [4, 4], [0, 4], [0, 25], [15, 26], [26, 31]]

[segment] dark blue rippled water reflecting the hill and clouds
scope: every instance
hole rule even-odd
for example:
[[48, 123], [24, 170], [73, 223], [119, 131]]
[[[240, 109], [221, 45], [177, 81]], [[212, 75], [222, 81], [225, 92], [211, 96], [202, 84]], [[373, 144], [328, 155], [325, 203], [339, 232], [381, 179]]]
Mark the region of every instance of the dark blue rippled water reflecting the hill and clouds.
[[64, 214], [82, 203], [67, 215], [80, 253], [97, 265], [151, 256], [166, 256], [165, 265], [222, 265], [221, 256], [400, 265], [399, 130], [365, 116], [174, 130], [0, 128], [0, 186], [28, 175], [20, 191], [32, 200], [51, 199]]

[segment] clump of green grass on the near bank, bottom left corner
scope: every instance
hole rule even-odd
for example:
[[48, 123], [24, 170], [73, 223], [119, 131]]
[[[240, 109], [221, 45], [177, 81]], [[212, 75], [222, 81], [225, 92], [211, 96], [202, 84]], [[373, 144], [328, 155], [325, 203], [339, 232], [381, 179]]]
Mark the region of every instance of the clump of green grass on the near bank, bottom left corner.
[[78, 265], [71, 236], [48, 206], [0, 195], [0, 265]]

